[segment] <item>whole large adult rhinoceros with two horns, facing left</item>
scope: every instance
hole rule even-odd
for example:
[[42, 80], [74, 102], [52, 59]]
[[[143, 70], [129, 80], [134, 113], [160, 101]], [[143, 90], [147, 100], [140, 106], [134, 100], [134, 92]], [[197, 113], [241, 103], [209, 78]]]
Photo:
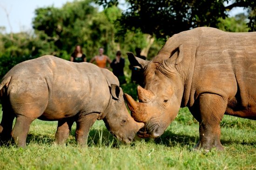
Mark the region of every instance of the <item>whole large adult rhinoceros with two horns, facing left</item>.
[[140, 137], [161, 136], [187, 106], [200, 123], [195, 148], [223, 150], [224, 114], [256, 119], [256, 33], [199, 27], [169, 38], [151, 61], [128, 58], [144, 70], [140, 103], [126, 94], [133, 118], [145, 123]]

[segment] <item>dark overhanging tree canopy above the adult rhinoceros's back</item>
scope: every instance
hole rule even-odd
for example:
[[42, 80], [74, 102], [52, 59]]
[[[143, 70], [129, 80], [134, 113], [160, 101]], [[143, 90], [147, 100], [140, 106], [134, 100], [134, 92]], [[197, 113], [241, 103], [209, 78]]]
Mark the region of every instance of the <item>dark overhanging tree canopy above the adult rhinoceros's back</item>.
[[[118, 0], [95, 0], [104, 7], [118, 4]], [[129, 7], [119, 19], [122, 32], [140, 28], [156, 37], [172, 36], [198, 26], [217, 27], [219, 18], [225, 19], [234, 7], [256, 10], [254, 0], [126, 0]], [[224, 2], [231, 2], [227, 7]], [[233, 3], [232, 3], [233, 2]], [[255, 14], [255, 13], [254, 13]], [[255, 15], [249, 16], [249, 27], [256, 26]]]

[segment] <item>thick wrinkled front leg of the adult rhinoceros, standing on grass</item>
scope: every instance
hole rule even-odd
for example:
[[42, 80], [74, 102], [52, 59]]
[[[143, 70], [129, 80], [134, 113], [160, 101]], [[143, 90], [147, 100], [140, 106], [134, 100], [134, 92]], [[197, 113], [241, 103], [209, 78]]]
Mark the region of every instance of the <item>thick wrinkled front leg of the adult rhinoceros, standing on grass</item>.
[[[217, 94], [204, 93], [200, 95], [196, 109], [192, 110], [199, 121], [200, 139], [195, 149], [224, 150], [221, 142], [220, 122], [227, 107], [227, 101]], [[200, 113], [199, 115], [196, 115]]]

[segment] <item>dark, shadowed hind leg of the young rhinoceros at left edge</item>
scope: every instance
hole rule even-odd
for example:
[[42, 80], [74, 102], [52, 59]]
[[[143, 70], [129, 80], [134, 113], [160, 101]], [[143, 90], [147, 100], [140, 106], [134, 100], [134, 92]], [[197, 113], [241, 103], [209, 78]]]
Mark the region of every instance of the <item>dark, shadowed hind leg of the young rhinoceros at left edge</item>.
[[13, 128], [14, 114], [7, 114], [6, 111], [3, 112], [3, 118], [0, 124], [0, 144], [7, 144], [11, 140], [11, 131]]

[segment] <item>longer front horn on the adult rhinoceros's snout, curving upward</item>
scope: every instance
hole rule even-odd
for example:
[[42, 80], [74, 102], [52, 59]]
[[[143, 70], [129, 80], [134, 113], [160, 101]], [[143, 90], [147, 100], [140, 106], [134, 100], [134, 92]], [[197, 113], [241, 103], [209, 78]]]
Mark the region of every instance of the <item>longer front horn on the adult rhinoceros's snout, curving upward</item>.
[[145, 103], [136, 102], [130, 95], [124, 94], [131, 115], [136, 122], [147, 122], [147, 105]]

